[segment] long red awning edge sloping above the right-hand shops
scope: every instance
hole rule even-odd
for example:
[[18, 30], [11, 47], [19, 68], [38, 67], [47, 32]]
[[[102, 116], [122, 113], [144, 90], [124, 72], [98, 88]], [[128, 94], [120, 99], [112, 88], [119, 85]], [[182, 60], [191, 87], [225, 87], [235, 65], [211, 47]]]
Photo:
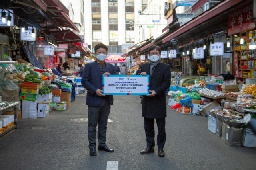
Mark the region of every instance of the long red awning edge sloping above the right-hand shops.
[[218, 5], [214, 6], [210, 10], [204, 12], [202, 15], [190, 20], [188, 23], [182, 25], [179, 29], [168, 35], [163, 39], [163, 43], [166, 43], [167, 41], [170, 41], [171, 39], [174, 39], [178, 37], [179, 35], [185, 33], [186, 31], [189, 31], [190, 29], [196, 27], [197, 25], [200, 25], [206, 20], [209, 20], [210, 18], [213, 18], [220, 14], [221, 12], [224, 12], [225, 10], [229, 9], [230, 7], [238, 4], [241, 2], [241, 0], [225, 0], [220, 2]]

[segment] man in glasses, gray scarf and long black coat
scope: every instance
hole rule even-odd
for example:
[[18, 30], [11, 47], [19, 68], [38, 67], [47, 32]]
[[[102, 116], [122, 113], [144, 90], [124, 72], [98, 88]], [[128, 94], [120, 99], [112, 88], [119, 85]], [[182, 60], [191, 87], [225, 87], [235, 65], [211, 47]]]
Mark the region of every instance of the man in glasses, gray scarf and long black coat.
[[146, 133], [146, 149], [140, 154], [154, 152], [155, 130], [154, 121], [158, 127], [156, 143], [158, 156], [164, 157], [164, 144], [166, 141], [165, 117], [166, 117], [166, 89], [170, 86], [170, 65], [161, 62], [161, 48], [153, 45], [149, 49], [149, 62], [141, 65], [140, 75], [150, 75], [149, 93], [142, 97], [142, 117], [144, 117], [144, 129]]

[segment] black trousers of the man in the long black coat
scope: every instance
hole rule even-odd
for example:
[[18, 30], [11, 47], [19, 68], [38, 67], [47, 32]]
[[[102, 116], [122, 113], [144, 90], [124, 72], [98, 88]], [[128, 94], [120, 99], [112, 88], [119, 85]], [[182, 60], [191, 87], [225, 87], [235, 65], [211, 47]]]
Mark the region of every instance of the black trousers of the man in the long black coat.
[[[155, 119], [144, 117], [144, 129], [146, 133], [147, 147], [155, 146], [155, 128], [154, 128]], [[165, 118], [156, 119], [156, 125], [158, 128], [156, 144], [158, 149], [163, 149], [166, 141], [165, 133]]]

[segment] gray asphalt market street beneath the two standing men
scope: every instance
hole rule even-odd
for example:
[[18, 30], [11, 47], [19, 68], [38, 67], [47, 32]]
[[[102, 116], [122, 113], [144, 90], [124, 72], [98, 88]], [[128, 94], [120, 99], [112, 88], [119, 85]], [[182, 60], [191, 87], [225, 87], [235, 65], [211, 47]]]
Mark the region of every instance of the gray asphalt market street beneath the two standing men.
[[108, 161], [117, 161], [114, 163], [120, 170], [256, 167], [255, 148], [230, 147], [207, 129], [207, 117], [183, 115], [170, 106], [166, 156], [158, 157], [157, 152], [141, 155], [146, 137], [138, 96], [114, 96], [107, 130], [107, 145], [114, 153], [97, 150], [96, 157], [89, 156], [85, 100], [85, 94], [79, 94], [66, 111], [51, 111], [46, 118], [20, 119], [18, 129], [0, 139], [0, 169], [106, 170]]

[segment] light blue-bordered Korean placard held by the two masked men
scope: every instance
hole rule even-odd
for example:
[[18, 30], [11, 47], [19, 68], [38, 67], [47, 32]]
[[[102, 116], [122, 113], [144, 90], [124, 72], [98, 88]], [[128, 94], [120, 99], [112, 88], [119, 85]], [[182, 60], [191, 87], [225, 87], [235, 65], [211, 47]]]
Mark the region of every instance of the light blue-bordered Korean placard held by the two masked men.
[[102, 80], [105, 95], [149, 94], [149, 75], [103, 75]]

